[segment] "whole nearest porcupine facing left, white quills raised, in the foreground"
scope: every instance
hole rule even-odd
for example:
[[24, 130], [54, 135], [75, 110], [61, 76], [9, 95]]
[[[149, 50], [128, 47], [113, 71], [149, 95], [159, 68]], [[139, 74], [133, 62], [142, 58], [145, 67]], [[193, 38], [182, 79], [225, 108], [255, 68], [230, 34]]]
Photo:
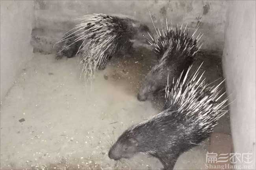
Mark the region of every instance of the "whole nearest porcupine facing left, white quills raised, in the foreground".
[[[200, 67], [199, 67], [200, 68]], [[138, 152], [158, 158], [172, 170], [179, 155], [210, 136], [218, 120], [227, 113], [219, 85], [206, 84], [198, 70], [184, 79], [182, 74], [165, 88], [164, 111], [128, 128], [109, 150], [109, 158], [121, 160]]]

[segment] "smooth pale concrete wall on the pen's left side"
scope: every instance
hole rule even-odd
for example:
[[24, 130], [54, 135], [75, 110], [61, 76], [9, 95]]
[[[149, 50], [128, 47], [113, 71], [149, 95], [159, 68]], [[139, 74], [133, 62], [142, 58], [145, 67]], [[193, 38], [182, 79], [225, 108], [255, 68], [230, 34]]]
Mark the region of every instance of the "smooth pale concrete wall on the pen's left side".
[[12, 86], [24, 64], [32, 58], [30, 37], [33, 1], [1, 1], [0, 100]]

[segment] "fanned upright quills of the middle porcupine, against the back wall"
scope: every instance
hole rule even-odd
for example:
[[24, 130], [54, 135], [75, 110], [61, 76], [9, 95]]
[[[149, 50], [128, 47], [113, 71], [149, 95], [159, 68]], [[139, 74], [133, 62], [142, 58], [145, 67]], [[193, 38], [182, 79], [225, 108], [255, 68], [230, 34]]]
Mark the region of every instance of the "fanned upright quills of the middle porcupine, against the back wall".
[[[151, 15], [150, 18], [152, 20]], [[182, 30], [182, 24], [180, 24], [179, 29], [178, 25], [176, 25], [175, 31], [173, 29], [172, 22], [168, 26], [167, 18], [165, 18], [165, 23], [165, 31], [163, 30], [163, 24], [161, 25], [160, 31], [159, 28], [156, 28], [152, 20], [152, 24], [156, 31], [156, 38], [153, 38], [153, 36], [148, 33], [149, 37], [151, 38], [148, 39], [148, 43], [152, 46], [153, 51], [158, 55], [159, 58], [158, 63], [152, 68], [153, 71], [163, 71], [163, 69], [165, 69], [164, 66], [167, 63], [180, 67], [179, 64], [183, 65], [182, 63], [184, 63], [185, 60], [189, 60], [191, 61], [190, 64], [192, 64], [192, 58], [195, 56], [195, 54], [197, 54], [202, 46], [202, 42], [199, 42], [199, 40], [203, 34], [199, 33], [196, 38], [194, 37], [199, 28], [199, 24], [197, 25], [197, 28], [195, 28], [193, 34], [189, 36], [188, 29], [186, 29], [187, 24], [184, 30]]]

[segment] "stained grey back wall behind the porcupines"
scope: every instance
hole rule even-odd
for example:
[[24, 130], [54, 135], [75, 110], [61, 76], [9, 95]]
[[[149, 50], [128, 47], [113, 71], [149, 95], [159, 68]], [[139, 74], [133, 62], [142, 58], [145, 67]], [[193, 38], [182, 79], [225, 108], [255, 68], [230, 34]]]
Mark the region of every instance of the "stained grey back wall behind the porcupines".
[[[50, 53], [52, 45], [64, 31], [72, 27], [72, 20], [91, 13], [123, 14], [152, 26], [148, 9], [154, 22], [161, 26], [165, 17], [174, 24], [188, 23], [195, 28], [201, 20], [199, 31], [204, 33], [202, 48], [219, 51], [224, 44], [226, 1], [35, 1], [36, 26], [33, 30], [35, 51]], [[153, 31], [153, 28], [151, 29]]]

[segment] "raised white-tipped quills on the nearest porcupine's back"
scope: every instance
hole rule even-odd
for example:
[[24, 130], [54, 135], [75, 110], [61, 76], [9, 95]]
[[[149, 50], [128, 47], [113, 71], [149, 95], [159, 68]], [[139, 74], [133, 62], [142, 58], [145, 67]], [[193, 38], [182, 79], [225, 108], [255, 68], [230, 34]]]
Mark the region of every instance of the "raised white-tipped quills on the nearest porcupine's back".
[[200, 67], [190, 77], [189, 67], [183, 80], [182, 73], [176, 81], [173, 79], [171, 86], [167, 83], [164, 109], [165, 113], [175, 110], [172, 114], [176, 120], [198, 125], [200, 133], [211, 133], [219, 118], [228, 112], [224, 109], [228, 98], [221, 101], [225, 92], [221, 93], [219, 86], [224, 80], [217, 86], [210, 86], [202, 78], [204, 72], [199, 74]]

